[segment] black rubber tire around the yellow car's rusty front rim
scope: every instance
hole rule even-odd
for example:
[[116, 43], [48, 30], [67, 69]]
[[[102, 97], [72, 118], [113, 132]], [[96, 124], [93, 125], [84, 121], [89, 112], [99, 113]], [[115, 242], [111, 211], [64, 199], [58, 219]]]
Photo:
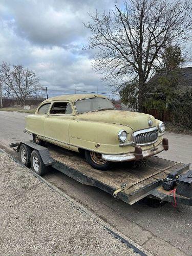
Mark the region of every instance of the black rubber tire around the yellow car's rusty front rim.
[[[112, 166], [111, 162], [108, 161], [104, 161], [102, 159], [100, 159], [100, 163], [98, 164], [96, 161], [94, 161], [92, 154], [95, 155], [100, 155], [98, 153], [92, 152], [92, 151], [86, 151], [85, 152], [85, 157], [87, 162], [94, 168], [94, 169], [98, 169], [98, 170], [109, 170]], [[100, 157], [101, 158], [101, 157]], [[103, 163], [102, 163], [103, 161]]]

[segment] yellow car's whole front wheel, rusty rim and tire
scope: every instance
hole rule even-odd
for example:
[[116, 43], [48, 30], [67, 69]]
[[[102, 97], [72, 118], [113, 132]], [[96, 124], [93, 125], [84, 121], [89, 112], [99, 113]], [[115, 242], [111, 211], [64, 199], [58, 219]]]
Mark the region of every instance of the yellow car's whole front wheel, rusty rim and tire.
[[99, 153], [93, 151], [86, 151], [85, 156], [87, 162], [95, 169], [108, 170], [111, 168], [112, 163], [103, 160], [101, 154]]

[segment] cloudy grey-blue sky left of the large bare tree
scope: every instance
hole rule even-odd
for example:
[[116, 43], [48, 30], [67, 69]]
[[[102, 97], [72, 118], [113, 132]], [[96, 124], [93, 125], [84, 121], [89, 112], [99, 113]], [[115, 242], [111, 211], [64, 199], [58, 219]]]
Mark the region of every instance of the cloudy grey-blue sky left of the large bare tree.
[[74, 93], [51, 89], [111, 92], [92, 68], [94, 52], [82, 50], [90, 31], [82, 22], [112, 9], [113, 0], [1, 0], [0, 62], [36, 72], [49, 96]]

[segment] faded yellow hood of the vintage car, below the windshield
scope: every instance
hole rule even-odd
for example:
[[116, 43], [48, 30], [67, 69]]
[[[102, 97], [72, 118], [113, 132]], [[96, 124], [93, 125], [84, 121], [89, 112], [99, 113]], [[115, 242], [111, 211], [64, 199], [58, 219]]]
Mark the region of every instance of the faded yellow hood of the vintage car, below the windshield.
[[126, 125], [131, 127], [133, 132], [149, 128], [149, 120], [153, 121], [152, 126], [156, 126], [155, 118], [153, 116], [132, 111], [105, 110], [88, 112], [78, 114], [74, 119]]

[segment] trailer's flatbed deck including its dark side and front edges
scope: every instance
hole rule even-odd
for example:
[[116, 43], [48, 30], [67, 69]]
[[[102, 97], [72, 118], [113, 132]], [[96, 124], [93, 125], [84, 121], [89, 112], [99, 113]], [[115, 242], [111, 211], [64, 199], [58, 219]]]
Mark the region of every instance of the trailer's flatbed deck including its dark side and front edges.
[[[92, 168], [78, 153], [48, 143], [46, 147], [54, 160], [52, 166], [60, 172], [83, 184], [99, 187], [111, 195], [119, 189], [117, 198], [129, 204], [150, 195], [151, 191], [160, 186], [162, 179], [169, 173], [177, 170], [182, 174], [189, 169], [189, 164], [185, 165], [152, 156], [140, 166], [134, 166], [129, 162], [114, 163], [111, 170], [101, 171]], [[123, 189], [122, 186], [125, 183]]]

